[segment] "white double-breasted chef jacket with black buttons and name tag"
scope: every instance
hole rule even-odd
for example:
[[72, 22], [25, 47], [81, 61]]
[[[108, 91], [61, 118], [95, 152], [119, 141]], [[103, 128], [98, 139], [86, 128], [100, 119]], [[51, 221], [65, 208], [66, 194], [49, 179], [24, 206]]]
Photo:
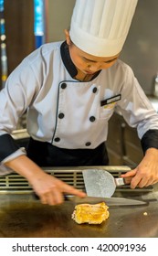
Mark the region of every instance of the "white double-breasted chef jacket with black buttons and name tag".
[[[140, 139], [158, 130], [158, 114], [128, 65], [118, 59], [93, 80], [75, 80], [61, 58], [61, 44], [37, 48], [10, 74], [0, 92], [0, 139], [16, 129], [24, 112], [31, 137], [68, 149], [93, 149], [105, 142], [115, 110], [137, 128]], [[2, 162], [22, 154], [17, 149]]]

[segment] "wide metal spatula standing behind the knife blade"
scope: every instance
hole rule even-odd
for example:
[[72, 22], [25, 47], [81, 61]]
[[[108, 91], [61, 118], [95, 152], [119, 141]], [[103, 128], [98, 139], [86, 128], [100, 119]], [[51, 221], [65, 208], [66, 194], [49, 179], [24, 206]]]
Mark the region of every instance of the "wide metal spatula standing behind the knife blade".
[[121, 177], [114, 178], [109, 172], [100, 169], [85, 169], [82, 174], [89, 197], [111, 197], [117, 186], [130, 183]]

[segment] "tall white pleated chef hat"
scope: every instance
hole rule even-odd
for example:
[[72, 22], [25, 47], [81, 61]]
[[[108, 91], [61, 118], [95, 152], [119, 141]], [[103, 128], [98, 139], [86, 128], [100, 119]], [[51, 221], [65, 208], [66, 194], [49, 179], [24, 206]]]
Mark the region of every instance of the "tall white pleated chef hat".
[[69, 35], [81, 50], [111, 57], [123, 47], [138, 0], [76, 0]]

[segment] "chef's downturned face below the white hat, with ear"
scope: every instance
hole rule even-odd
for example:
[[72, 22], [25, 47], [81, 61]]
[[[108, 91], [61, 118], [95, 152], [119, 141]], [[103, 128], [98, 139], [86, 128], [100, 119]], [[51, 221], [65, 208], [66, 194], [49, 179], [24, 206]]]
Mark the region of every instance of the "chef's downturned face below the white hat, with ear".
[[66, 38], [69, 48], [69, 54], [74, 65], [77, 69], [85, 74], [94, 74], [100, 69], [108, 69], [119, 58], [120, 54], [112, 57], [96, 57], [90, 55], [76, 47], [70, 40], [69, 34], [66, 34]]

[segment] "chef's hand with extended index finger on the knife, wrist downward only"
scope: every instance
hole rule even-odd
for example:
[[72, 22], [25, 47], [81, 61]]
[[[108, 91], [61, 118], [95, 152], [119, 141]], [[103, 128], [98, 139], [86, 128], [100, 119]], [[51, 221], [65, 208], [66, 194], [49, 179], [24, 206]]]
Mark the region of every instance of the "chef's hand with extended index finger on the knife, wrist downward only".
[[51, 206], [63, 203], [63, 193], [78, 197], [86, 196], [84, 192], [81, 192], [78, 189], [71, 187], [65, 182], [59, 180], [58, 178], [50, 176], [46, 173], [37, 176], [37, 179], [34, 180], [32, 187], [39, 197], [41, 203]]

